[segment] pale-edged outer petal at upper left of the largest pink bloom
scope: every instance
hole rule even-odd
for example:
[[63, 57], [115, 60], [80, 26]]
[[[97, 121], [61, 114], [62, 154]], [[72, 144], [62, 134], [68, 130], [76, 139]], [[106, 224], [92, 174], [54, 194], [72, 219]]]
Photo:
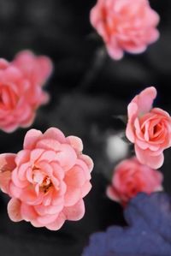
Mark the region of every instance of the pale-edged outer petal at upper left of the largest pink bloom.
[[42, 133], [40, 131], [36, 129], [29, 130], [24, 139], [24, 149], [32, 150], [41, 137]]

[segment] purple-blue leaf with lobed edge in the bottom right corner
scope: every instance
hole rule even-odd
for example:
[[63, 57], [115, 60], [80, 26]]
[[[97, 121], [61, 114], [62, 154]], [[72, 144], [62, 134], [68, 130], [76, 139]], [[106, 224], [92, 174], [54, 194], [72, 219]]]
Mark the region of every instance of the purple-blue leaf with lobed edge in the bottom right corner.
[[171, 199], [166, 193], [139, 193], [125, 217], [129, 227], [112, 226], [91, 235], [82, 256], [171, 255]]

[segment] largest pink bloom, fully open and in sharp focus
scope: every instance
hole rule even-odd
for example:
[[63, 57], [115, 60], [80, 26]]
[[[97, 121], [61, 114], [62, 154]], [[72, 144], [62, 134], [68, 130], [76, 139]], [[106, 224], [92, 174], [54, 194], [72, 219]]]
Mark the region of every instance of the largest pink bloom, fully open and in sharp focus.
[[65, 137], [57, 128], [44, 134], [31, 129], [21, 152], [0, 155], [0, 186], [12, 198], [8, 205], [11, 220], [26, 220], [51, 230], [60, 229], [66, 220], [80, 220], [93, 168], [82, 150], [80, 138]]

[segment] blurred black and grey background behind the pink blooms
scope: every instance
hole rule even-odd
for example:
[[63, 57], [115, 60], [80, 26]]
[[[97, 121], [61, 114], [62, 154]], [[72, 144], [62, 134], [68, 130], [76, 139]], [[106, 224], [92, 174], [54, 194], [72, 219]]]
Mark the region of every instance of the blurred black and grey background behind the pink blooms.
[[[127, 104], [146, 86], [156, 86], [156, 104], [171, 113], [171, 2], [152, 0], [161, 16], [161, 38], [144, 54], [115, 62], [108, 56], [95, 62], [102, 44], [90, 25], [93, 0], [0, 0], [0, 57], [12, 60], [18, 51], [30, 49], [49, 56], [55, 66], [46, 90], [50, 104], [38, 110], [33, 128], [50, 126], [80, 136], [85, 153], [95, 163], [91, 193], [85, 198], [85, 217], [67, 222], [61, 230], [35, 229], [30, 223], [12, 223], [6, 211], [8, 199], [0, 197], [0, 255], [80, 256], [92, 232], [111, 224], [124, 224], [121, 206], [107, 199], [105, 189], [119, 160], [109, 158], [109, 138], [121, 134], [124, 125], [115, 115], [126, 115]], [[103, 59], [102, 59], [103, 58]], [[99, 64], [100, 63], [100, 64]], [[21, 150], [27, 129], [0, 132], [0, 152]], [[129, 153], [126, 152], [126, 156]], [[166, 152], [164, 188], [171, 193], [171, 151]], [[123, 156], [122, 156], [123, 157]]]

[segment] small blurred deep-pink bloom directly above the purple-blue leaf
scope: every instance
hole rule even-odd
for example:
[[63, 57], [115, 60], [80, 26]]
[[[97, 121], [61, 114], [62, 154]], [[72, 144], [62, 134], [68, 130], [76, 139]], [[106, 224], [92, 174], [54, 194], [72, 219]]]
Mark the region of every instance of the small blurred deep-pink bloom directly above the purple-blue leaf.
[[140, 164], [137, 158], [133, 157], [115, 167], [112, 184], [107, 188], [107, 195], [125, 206], [137, 193], [161, 190], [162, 173]]

